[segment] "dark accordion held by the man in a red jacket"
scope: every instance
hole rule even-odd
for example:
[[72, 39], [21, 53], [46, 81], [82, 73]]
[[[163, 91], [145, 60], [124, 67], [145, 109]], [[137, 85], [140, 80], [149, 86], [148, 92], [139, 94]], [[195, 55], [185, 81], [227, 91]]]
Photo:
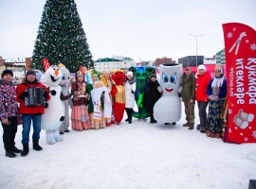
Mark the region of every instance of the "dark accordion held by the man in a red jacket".
[[25, 90], [28, 96], [25, 97], [25, 106], [45, 106], [46, 105], [46, 88], [31, 87]]

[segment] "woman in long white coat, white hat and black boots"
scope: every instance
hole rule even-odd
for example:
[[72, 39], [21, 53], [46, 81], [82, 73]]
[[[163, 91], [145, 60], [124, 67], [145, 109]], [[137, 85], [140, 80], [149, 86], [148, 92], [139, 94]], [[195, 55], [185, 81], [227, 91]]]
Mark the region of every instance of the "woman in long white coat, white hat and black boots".
[[132, 123], [133, 108], [135, 106], [135, 91], [136, 91], [136, 77], [134, 77], [132, 72], [126, 74], [125, 80], [125, 112], [127, 113], [128, 118], [125, 121], [128, 121], [129, 124]]

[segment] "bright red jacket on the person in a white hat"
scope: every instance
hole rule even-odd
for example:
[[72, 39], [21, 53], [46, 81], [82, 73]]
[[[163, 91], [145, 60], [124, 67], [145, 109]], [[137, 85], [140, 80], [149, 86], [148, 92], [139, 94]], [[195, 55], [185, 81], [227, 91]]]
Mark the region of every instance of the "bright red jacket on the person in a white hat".
[[195, 84], [195, 100], [208, 101], [207, 86], [210, 82], [210, 74], [205, 72], [203, 75], [197, 75]]

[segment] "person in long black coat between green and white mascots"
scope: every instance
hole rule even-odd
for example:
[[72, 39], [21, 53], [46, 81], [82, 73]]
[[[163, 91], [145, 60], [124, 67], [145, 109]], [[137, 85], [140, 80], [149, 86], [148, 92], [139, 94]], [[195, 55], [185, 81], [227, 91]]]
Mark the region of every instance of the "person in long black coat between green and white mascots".
[[156, 80], [156, 75], [152, 74], [149, 77], [149, 81], [146, 86], [147, 89], [147, 109], [146, 111], [150, 113], [150, 123], [156, 123], [154, 118], [154, 106], [155, 102], [161, 97], [162, 89]]

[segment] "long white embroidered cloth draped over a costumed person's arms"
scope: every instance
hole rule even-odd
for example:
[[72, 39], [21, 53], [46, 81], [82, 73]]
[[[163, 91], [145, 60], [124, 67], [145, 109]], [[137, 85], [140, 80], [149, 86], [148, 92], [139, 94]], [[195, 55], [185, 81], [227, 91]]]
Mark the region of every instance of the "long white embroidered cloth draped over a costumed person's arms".
[[[103, 110], [101, 110], [101, 94], [103, 95]], [[91, 91], [91, 97], [93, 101], [93, 121], [101, 121], [103, 119], [111, 119], [112, 105], [109, 98], [108, 91], [106, 87], [95, 88]]]

